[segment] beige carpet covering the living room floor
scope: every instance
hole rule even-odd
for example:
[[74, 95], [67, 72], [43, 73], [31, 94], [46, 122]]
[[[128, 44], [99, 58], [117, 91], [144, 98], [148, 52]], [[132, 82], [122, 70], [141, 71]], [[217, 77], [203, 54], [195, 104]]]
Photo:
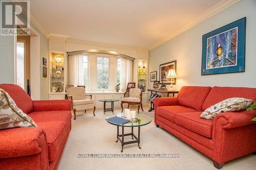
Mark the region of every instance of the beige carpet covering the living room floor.
[[[134, 108], [136, 110], [136, 108]], [[180, 158], [77, 158], [77, 154], [117, 153], [121, 151], [120, 142], [116, 143], [116, 126], [104, 119], [111, 115], [96, 110], [94, 117], [91, 111], [72, 119], [72, 130], [58, 169], [215, 169], [212, 160], [197, 150], [154, 124], [154, 112], [147, 112], [152, 118], [149, 125], [141, 128], [141, 150], [138, 144], [124, 145], [123, 153], [145, 154], [180, 154]], [[115, 109], [120, 112], [120, 108]], [[126, 128], [127, 129], [127, 128]], [[129, 132], [127, 129], [125, 132]], [[137, 128], [135, 129], [137, 135]], [[131, 139], [127, 136], [126, 139]], [[255, 169], [256, 155], [247, 155], [227, 162], [222, 167], [226, 169]]]

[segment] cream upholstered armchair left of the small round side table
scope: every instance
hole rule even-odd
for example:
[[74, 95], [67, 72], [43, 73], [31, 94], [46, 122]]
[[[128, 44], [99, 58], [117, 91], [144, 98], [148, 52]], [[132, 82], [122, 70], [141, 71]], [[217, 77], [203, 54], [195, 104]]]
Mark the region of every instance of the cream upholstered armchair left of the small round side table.
[[[72, 102], [72, 110], [74, 112], [74, 120], [76, 119], [76, 111], [87, 109], [93, 109], [93, 115], [95, 116], [95, 104], [92, 95], [86, 94], [86, 89], [83, 87], [70, 87], [67, 89], [68, 98]], [[89, 98], [89, 99], [88, 99]]]

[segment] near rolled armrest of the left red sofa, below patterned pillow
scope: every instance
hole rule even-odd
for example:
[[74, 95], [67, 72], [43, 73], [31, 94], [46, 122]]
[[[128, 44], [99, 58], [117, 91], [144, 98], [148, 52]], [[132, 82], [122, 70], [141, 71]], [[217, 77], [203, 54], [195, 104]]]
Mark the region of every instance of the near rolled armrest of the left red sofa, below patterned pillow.
[[0, 159], [34, 155], [46, 150], [46, 133], [42, 128], [0, 130]]

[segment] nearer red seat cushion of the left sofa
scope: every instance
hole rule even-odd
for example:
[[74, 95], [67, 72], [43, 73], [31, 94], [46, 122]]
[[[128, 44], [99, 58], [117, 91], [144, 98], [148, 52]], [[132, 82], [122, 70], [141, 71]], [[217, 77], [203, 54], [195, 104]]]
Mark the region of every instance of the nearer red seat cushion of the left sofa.
[[60, 152], [62, 144], [65, 142], [65, 139], [67, 138], [67, 135], [69, 133], [66, 122], [40, 122], [37, 123], [37, 125], [38, 127], [44, 129], [46, 132], [48, 157], [49, 161], [52, 161]]

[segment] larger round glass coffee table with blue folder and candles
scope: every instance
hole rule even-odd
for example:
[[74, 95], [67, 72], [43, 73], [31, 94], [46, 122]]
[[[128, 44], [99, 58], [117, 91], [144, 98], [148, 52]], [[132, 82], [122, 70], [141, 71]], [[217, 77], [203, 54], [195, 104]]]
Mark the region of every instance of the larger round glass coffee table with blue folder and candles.
[[[125, 118], [124, 117], [124, 113], [118, 113], [118, 114], [115, 114], [115, 115], [111, 115], [111, 116], [109, 116], [107, 118], [111, 118], [111, 117], [115, 117], [115, 116]], [[144, 114], [138, 114], [137, 113], [136, 114], [136, 118], [132, 118], [131, 121], [128, 122], [128, 123], [125, 123], [125, 124], [122, 124], [122, 125], [114, 124], [112, 122], [108, 122], [108, 123], [117, 126], [117, 135], [116, 135], [117, 141], [116, 142], [118, 142], [118, 140], [121, 142], [121, 144], [122, 144], [121, 152], [123, 152], [123, 146], [125, 144], [138, 143], [139, 149], [141, 149], [141, 147], [140, 147], [140, 127], [141, 126], [145, 126], [147, 124], [150, 124], [151, 123], [151, 118], [146, 116], [146, 115], [144, 115]], [[119, 135], [119, 126], [122, 127], [122, 134], [121, 135]], [[132, 133], [124, 134], [124, 127], [132, 128]], [[133, 132], [133, 128], [134, 127], [138, 127], [138, 137], [135, 136], [135, 134]], [[126, 141], [125, 142], [124, 141], [124, 136], [130, 136], [130, 135], [132, 136], [132, 139], [135, 138], [135, 140], [131, 140], [131, 141]]]

